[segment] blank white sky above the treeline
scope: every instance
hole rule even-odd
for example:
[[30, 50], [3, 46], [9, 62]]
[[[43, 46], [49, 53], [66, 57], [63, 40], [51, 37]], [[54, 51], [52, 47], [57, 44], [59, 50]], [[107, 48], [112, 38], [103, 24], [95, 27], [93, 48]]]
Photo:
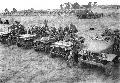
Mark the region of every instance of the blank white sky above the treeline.
[[88, 2], [98, 2], [98, 4], [117, 4], [120, 5], [120, 0], [0, 0], [0, 11], [8, 8], [17, 10], [23, 9], [56, 9], [59, 5], [65, 2], [78, 2], [80, 5], [87, 4]]

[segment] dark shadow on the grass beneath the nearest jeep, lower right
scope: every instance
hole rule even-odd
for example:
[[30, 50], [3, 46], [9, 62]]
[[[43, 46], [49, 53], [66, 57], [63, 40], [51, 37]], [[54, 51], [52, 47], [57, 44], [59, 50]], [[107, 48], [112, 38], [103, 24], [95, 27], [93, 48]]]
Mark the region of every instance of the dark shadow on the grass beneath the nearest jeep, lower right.
[[95, 73], [95, 75], [98, 78], [102, 77], [103, 81], [108, 80], [108, 79], [119, 81], [119, 78], [120, 78], [120, 71], [119, 71], [120, 64], [119, 63], [113, 65], [112, 70], [111, 70], [112, 73], [107, 73], [105, 71], [105, 68], [103, 67], [98, 67], [96, 65], [90, 65], [86, 63], [82, 63], [80, 66], [80, 69], [87, 70], [90, 73]]

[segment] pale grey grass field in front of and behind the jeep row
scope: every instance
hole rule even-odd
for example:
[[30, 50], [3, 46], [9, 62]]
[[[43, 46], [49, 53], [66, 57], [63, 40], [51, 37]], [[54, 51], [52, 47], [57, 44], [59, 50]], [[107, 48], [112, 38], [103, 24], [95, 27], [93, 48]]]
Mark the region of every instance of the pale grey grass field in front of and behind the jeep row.
[[[41, 25], [44, 19], [49, 26], [65, 27], [76, 25], [79, 35], [95, 36], [104, 28], [120, 29], [120, 15], [99, 19], [77, 19], [74, 16], [8, 16], [18, 20], [26, 28]], [[3, 31], [7, 26], [1, 25]], [[89, 31], [89, 28], [95, 28]], [[2, 30], [1, 30], [2, 31]], [[97, 66], [69, 68], [64, 60], [49, 58], [48, 54], [37, 53], [33, 49], [23, 50], [17, 46], [4, 47], [0, 44], [0, 83], [119, 83], [119, 64], [113, 67], [113, 74], [106, 75], [104, 69]]]

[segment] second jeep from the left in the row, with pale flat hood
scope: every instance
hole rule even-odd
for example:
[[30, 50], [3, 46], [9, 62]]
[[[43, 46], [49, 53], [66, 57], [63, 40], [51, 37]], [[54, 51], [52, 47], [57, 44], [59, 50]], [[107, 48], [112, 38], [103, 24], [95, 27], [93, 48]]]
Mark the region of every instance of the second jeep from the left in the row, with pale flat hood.
[[24, 35], [19, 35], [17, 38], [17, 46], [18, 47], [23, 47], [23, 48], [32, 48], [33, 47], [33, 41], [35, 40], [36, 35], [31, 35], [31, 34], [24, 34]]

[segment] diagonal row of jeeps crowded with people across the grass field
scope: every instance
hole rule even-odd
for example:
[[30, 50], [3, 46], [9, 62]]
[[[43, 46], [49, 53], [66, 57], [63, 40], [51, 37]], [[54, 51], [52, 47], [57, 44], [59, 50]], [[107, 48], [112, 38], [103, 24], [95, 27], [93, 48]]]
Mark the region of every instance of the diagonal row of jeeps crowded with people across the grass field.
[[120, 31], [106, 29], [102, 39], [79, 36], [72, 23], [65, 28], [49, 27], [45, 20], [44, 26], [27, 30], [20, 22], [15, 21], [8, 33], [0, 33], [3, 45], [17, 45], [24, 49], [49, 53], [51, 58], [62, 57], [69, 66], [87, 63], [104, 67], [106, 71], [119, 62]]

